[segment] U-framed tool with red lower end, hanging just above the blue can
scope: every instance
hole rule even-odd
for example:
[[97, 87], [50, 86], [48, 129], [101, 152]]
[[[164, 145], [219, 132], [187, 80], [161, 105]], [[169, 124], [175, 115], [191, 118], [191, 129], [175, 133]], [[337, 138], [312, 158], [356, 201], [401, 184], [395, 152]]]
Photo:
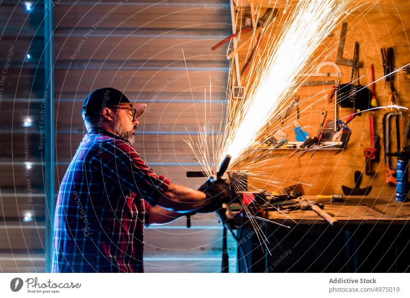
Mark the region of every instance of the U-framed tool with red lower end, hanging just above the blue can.
[[[400, 124], [399, 118], [401, 118], [402, 112], [394, 111], [383, 115], [383, 143], [384, 143], [384, 163], [386, 167], [386, 181], [385, 183], [396, 184], [396, 171], [392, 166], [391, 159], [394, 156], [400, 154]], [[392, 153], [391, 141], [392, 141], [392, 129], [390, 125], [390, 119], [394, 118], [396, 123], [396, 143], [397, 152]]]

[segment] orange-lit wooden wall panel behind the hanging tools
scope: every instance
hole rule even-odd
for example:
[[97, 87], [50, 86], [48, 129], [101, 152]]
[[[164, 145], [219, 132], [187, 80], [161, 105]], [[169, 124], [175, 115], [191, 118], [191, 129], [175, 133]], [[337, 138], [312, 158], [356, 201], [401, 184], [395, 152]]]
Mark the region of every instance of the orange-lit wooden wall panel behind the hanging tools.
[[[240, 3], [238, 1], [238, 3]], [[256, 3], [259, 3], [258, 1]], [[266, 2], [264, 2], [266, 3]], [[283, 2], [279, 1], [279, 4]], [[246, 12], [248, 2], [243, 2], [243, 12]], [[282, 16], [283, 8], [280, 8], [278, 18]], [[263, 9], [262, 9], [263, 10]], [[345, 49], [343, 58], [353, 57], [354, 45], [356, 41], [360, 42], [359, 61], [363, 63], [360, 69], [360, 75], [364, 76], [361, 84], [370, 83], [370, 67], [374, 64], [375, 79], [383, 76], [382, 58], [380, 48], [394, 47], [395, 61], [397, 68], [404, 66], [410, 62], [410, 43], [408, 36], [410, 34], [410, 4], [403, 1], [381, 1], [380, 4], [373, 7], [364, 6], [361, 9], [348, 16], [344, 22], [348, 22], [347, 36], [345, 39]], [[275, 26], [280, 26], [276, 24]], [[333, 31], [333, 33], [324, 40], [324, 44], [316, 53], [317, 57], [322, 57], [324, 61], [336, 62], [336, 52], [340, 37], [341, 24]], [[262, 41], [262, 49], [267, 40]], [[273, 41], [274, 42], [274, 41]], [[241, 67], [247, 60], [244, 52], [240, 52], [239, 56]], [[329, 57], [327, 57], [329, 56]], [[263, 57], [258, 57], [262, 58]], [[321, 61], [319, 59], [319, 61]], [[350, 82], [351, 68], [339, 65], [343, 72], [343, 77], [340, 78], [340, 83]], [[324, 68], [323, 72], [335, 72], [333, 68]], [[330, 80], [335, 78], [319, 77], [310, 78], [311, 80]], [[246, 80], [244, 81], [246, 83]], [[410, 107], [410, 81], [403, 73], [399, 72], [394, 78], [394, 87], [399, 95], [399, 104], [403, 107]], [[334, 119], [334, 104], [326, 102], [326, 94], [330, 93], [332, 86], [313, 86], [302, 87], [297, 94], [300, 95], [300, 120], [305, 131], [311, 136], [315, 136], [319, 127], [320, 112], [327, 111], [327, 119]], [[375, 83], [376, 96], [379, 106], [387, 105], [389, 101], [389, 86], [385, 87], [384, 80]], [[372, 185], [373, 190], [371, 196], [391, 196], [395, 197], [395, 186], [385, 184], [385, 165], [383, 159], [383, 135], [382, 135], [382, 116], [390, 110], [376, 110], [373, 112], [364, 112], [357, 116], [348, 124], [352, 130], [350, 141], [345, 150], [335, 154], [335, 151], [318, 151], [313, 158], [311, 153], [307, 153], [300, 157], [294, 151], [276, 150], [272, 153], [275, 157], [274, 161], [266, 163], [260, 168], [259, 173], [263, 173], [278, 181], [279, 185], [265, 183], [254, 180], [251, 183], [256, 187], [264, 186], [268, 190], [277, 191], [281, 186], [291, 185], [297, 182], [305, 183], [305, 193], [309, 195], [324, 194], [330, 195], [333, 193], [341, 194], [341, 185], [348, 187], [354, 186], [354, 172], [360, 171], [363, 173], [362, 185]], [[352, 109], [340, 108], [338, 106], [337, 113], [339, 118], [346, 117], [352, 112]], [[375, 131], [379, 133], [381, 138], [380, 162], [376, 162], [373, 168], [377, 171], [374, 176], [365, 176], [365, 158], [363, 157], [363, 149], [370, 147], [370, 131], [368, 124], [368, 115], [372, 113], [375, 117]], [[285, 121], [283, 127], [288, 126], [285, 132], [288, 134], [288, 140], [295, 140], [293, 133], [293, 122], [296, 120], [295, 110], [292, 111], [289, 118]], [[401, 121], [401, 136], [408, 121], [408, 113], [403, 113]], [[280, 127], [280, 126], [279, 126]], [[278, 128], [279, 128], [278, 127]], [[393, 133], [393, 136], [395, 134]], [[396, 146], [395, 137], [393, 140], [393, 150]], [[408, 139], [403, 138], [403, 145], [408, 145]], [[256, 171], [258, 173], [258, 171]], [[277, 187], [279, 186], [279, 187]]]

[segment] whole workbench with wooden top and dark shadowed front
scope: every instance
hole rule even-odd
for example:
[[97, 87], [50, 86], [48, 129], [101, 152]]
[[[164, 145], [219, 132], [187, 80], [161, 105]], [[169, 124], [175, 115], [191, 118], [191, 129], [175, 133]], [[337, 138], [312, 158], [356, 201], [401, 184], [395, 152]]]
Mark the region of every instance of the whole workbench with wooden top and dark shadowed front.
[[[304, 198], [316, 200], [315, 196]], [[270, 254], [262, 249], [261, 237], [252, 232], [250, 223], [245, 223], [238, 238], [249, 272], [410, 271], [410, 202], [396, 202], [395, 197], [345, 199], [322, 200], [324, 210], [338, 220], [336, 226], [313, 210], [269, 211], [264, 217], [289, 226], [258, 221]], [[245, 271], [239, 251], [238, 270]]]

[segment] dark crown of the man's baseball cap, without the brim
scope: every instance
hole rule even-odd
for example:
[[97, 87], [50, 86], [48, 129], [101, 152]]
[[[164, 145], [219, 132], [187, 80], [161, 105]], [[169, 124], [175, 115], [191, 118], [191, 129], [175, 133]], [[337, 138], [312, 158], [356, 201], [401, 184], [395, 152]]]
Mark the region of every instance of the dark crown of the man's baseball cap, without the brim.
[[[95, 112], [100, 112], [101, 109], [118, 105], [119, 103], [130, 103], [127, 96], [121, 91], [114, 88], [100, 88], [91, 92], [84, 100], [83, 110], [81, 114], [83, 118], [92, 115]], [[142, 114], [142, 113], [141, 113]], [[139, 115], [140, 116], [140, 115]]]

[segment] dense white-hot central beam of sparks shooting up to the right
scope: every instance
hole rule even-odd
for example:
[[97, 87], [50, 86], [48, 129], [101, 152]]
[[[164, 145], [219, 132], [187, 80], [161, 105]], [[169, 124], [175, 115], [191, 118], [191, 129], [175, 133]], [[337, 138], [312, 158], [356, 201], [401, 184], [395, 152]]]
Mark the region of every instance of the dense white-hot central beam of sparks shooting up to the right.
[[299, 1], [284, 20], [281, 34], [271, 42], [267, 61], [261, 63], [256, 86], [248, 88], [247, 99], [232, 119], [220, 156], [231, 155], [231, 167], [259, 137], [265, 124], [278, 117], [286, 99], [301, 87], [303, 81], [298, 75], [313, 65], [313, 54], [352, 4], [352, 0]]

